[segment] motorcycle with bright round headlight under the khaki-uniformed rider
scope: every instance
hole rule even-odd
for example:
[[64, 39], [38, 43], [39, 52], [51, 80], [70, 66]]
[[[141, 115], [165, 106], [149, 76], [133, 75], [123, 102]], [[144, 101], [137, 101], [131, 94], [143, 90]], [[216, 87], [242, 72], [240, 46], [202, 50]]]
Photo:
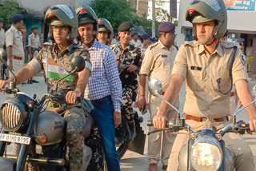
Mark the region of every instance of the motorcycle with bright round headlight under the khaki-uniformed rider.
[[[151, 79], [149, 82], [150, 93], [154, 96], [161, 97], [163, 101], [166, 101], [162, 97], [162, 84], [157, 79]], [[254, 86], [254, 92], [256, 91], [256, 85]], [[159, 131], [171, 131], [172, 133], [178, 133], [180, 130], [187, 130], [189, 132], [189, 141], [182, 147], [179, 152], [179, 168], [180, 171], [234, 171], [234, 160], [231, 157], [230, 150], [226, 148], [225, 141], [222, 137], [225, 133], [239, 133], [244, 134], [250, 127], [244, 121], [236, 121], [236, 115], [242, 109], [252, 105], [256, 102], [256, 99], [250, 104], [238, 109], [234, 113], [232, 124], [226, 125], [219, 133], [216, 128], [201, 129], [195, 132], [190, 125], [185, 123], [185, 119], [181, 118], [181, 112], [171, 105], [168, 101], [166, 103], [178, 112], [178, 118], [172, 118], [166, 122], [165, 129], [156, 129], [150, 133], [156, 133]], [[147, 122], [148, 126], [153, 126], [152, 121]], [[206, 150], [207, 149], [207, 150]]]

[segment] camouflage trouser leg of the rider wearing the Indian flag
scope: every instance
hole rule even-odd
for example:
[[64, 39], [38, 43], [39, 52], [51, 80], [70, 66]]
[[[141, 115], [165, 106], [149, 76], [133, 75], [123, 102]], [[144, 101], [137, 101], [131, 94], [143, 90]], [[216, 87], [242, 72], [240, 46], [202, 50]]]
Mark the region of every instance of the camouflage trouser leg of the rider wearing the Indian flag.
[[84, 109], [73, 107], [64, 114], [66, 120], [66, 141], [70, 149], [70, 170], [79, 170], [82, 167], [84, 137], [82, 127], [86, 123]]

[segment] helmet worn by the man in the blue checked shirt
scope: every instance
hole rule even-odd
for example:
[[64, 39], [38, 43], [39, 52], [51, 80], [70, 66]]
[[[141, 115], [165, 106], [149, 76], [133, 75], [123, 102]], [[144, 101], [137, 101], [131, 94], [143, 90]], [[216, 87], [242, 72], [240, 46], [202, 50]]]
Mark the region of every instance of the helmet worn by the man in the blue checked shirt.
[[78, 15], [78, 25], [84, 23], [92, 23], [94, 25], [94, 38], [97, 38], [98, 17], [94, 10], [90, 6], [82, 6], [78, 7], [75, 12]]

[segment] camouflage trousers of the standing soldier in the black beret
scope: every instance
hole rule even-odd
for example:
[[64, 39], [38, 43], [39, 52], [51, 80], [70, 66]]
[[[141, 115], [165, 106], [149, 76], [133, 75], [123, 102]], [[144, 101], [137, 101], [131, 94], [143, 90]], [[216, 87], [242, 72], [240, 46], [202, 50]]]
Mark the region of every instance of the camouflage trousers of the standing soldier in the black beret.
[[122, 105], [121, 105], [122, 113], [127, 113], [127, 114], [134, 113], [132, 104], [133, 104], [133, 101], [136, 100], [137, 92], [138, 92], [138, 84], [124, 86], [122, 88]]

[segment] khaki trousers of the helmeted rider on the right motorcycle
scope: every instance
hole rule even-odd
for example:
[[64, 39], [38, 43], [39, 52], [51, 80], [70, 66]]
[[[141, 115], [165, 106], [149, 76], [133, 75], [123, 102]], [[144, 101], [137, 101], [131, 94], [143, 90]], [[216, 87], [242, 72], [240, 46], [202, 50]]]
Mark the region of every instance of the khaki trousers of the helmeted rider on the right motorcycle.
[[[203, 128], [211, 129], [215, 126], [218, 132], [225, 126], [230, 124], [230, 121], [193, 121], [186, 120], [186, 124], [190, 125], [195, 132]], [[254, 171], [254, 157], [250, 147], [242, 136], [236, 133], [226, 133], [222, 138], [225, 141], [226, 147], [230, 149], [231, 157], [234, 159], [234, 168], [236, 171]], [[173, 149], [170, 153], [167, 171], [178, 170], [178, 154], [183, 145], [189, 140], [187, 131], [179, 131], [176, 140], [174, 141]]]

